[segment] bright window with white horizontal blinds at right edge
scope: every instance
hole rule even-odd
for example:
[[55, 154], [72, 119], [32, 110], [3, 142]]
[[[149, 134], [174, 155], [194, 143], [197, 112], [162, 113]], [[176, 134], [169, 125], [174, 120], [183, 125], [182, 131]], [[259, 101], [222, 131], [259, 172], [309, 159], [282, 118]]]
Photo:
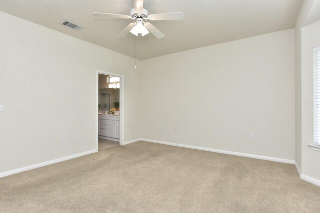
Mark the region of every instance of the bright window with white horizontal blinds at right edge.
[[313, 48], [313, 142], [320, 145], [320, 46]]

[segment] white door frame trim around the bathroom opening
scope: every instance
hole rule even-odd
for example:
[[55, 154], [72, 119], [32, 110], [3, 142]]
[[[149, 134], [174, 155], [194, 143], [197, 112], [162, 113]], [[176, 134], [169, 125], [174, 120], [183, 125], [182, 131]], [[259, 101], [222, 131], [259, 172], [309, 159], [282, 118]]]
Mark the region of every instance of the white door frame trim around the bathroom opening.
[[124, 143], [124, 75], [120, 75], [117, 73], [112, 73], [112, 72], [106, 72], [106, 71], [102, 71], [102, 70], [96, 70], [96, 76], [95, 76], [95, 149], [96, 151], [98, 151], [98, 96], [99, 96], [99, 74], [103, 74], [103, 75], [111, 75], [111, 76], [115, 76], [115, 77], [119, 77], [120, 78], [120, 103], [119, 103], [119, 107], [120, 107], [120, 117], [119, 117], [119, 121], [120, 121], [120, 138], [119, 138], [119, 144], [123, 145]]

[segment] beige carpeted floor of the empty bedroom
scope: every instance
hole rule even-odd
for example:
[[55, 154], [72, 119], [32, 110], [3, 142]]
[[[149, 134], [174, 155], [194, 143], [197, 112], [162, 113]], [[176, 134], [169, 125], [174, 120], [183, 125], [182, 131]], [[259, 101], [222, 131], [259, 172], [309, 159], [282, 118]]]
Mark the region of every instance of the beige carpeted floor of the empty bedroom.
[[319, 212], [294, 165], [147, 142], [0, 179], [0, 212]]

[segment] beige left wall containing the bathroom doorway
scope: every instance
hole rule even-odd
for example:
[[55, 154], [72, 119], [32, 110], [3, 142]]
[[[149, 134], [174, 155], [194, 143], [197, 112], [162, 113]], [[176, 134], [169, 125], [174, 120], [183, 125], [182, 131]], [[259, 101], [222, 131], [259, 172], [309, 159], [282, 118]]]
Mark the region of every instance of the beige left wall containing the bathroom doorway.
[[0, 26], [0, 172], [95, 149], [96, 70], [124, 75], [124, 141], [139, 137], [133, 58], [3, 12]]

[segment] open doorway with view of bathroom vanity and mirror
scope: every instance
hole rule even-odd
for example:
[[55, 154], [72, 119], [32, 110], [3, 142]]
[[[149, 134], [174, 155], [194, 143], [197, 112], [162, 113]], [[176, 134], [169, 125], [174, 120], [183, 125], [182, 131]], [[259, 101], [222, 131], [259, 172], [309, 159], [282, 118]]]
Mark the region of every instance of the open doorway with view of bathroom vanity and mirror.
[[98, 151], [118, 146], [123, 140], [123, 76], [97, 71], [97, 138]]

